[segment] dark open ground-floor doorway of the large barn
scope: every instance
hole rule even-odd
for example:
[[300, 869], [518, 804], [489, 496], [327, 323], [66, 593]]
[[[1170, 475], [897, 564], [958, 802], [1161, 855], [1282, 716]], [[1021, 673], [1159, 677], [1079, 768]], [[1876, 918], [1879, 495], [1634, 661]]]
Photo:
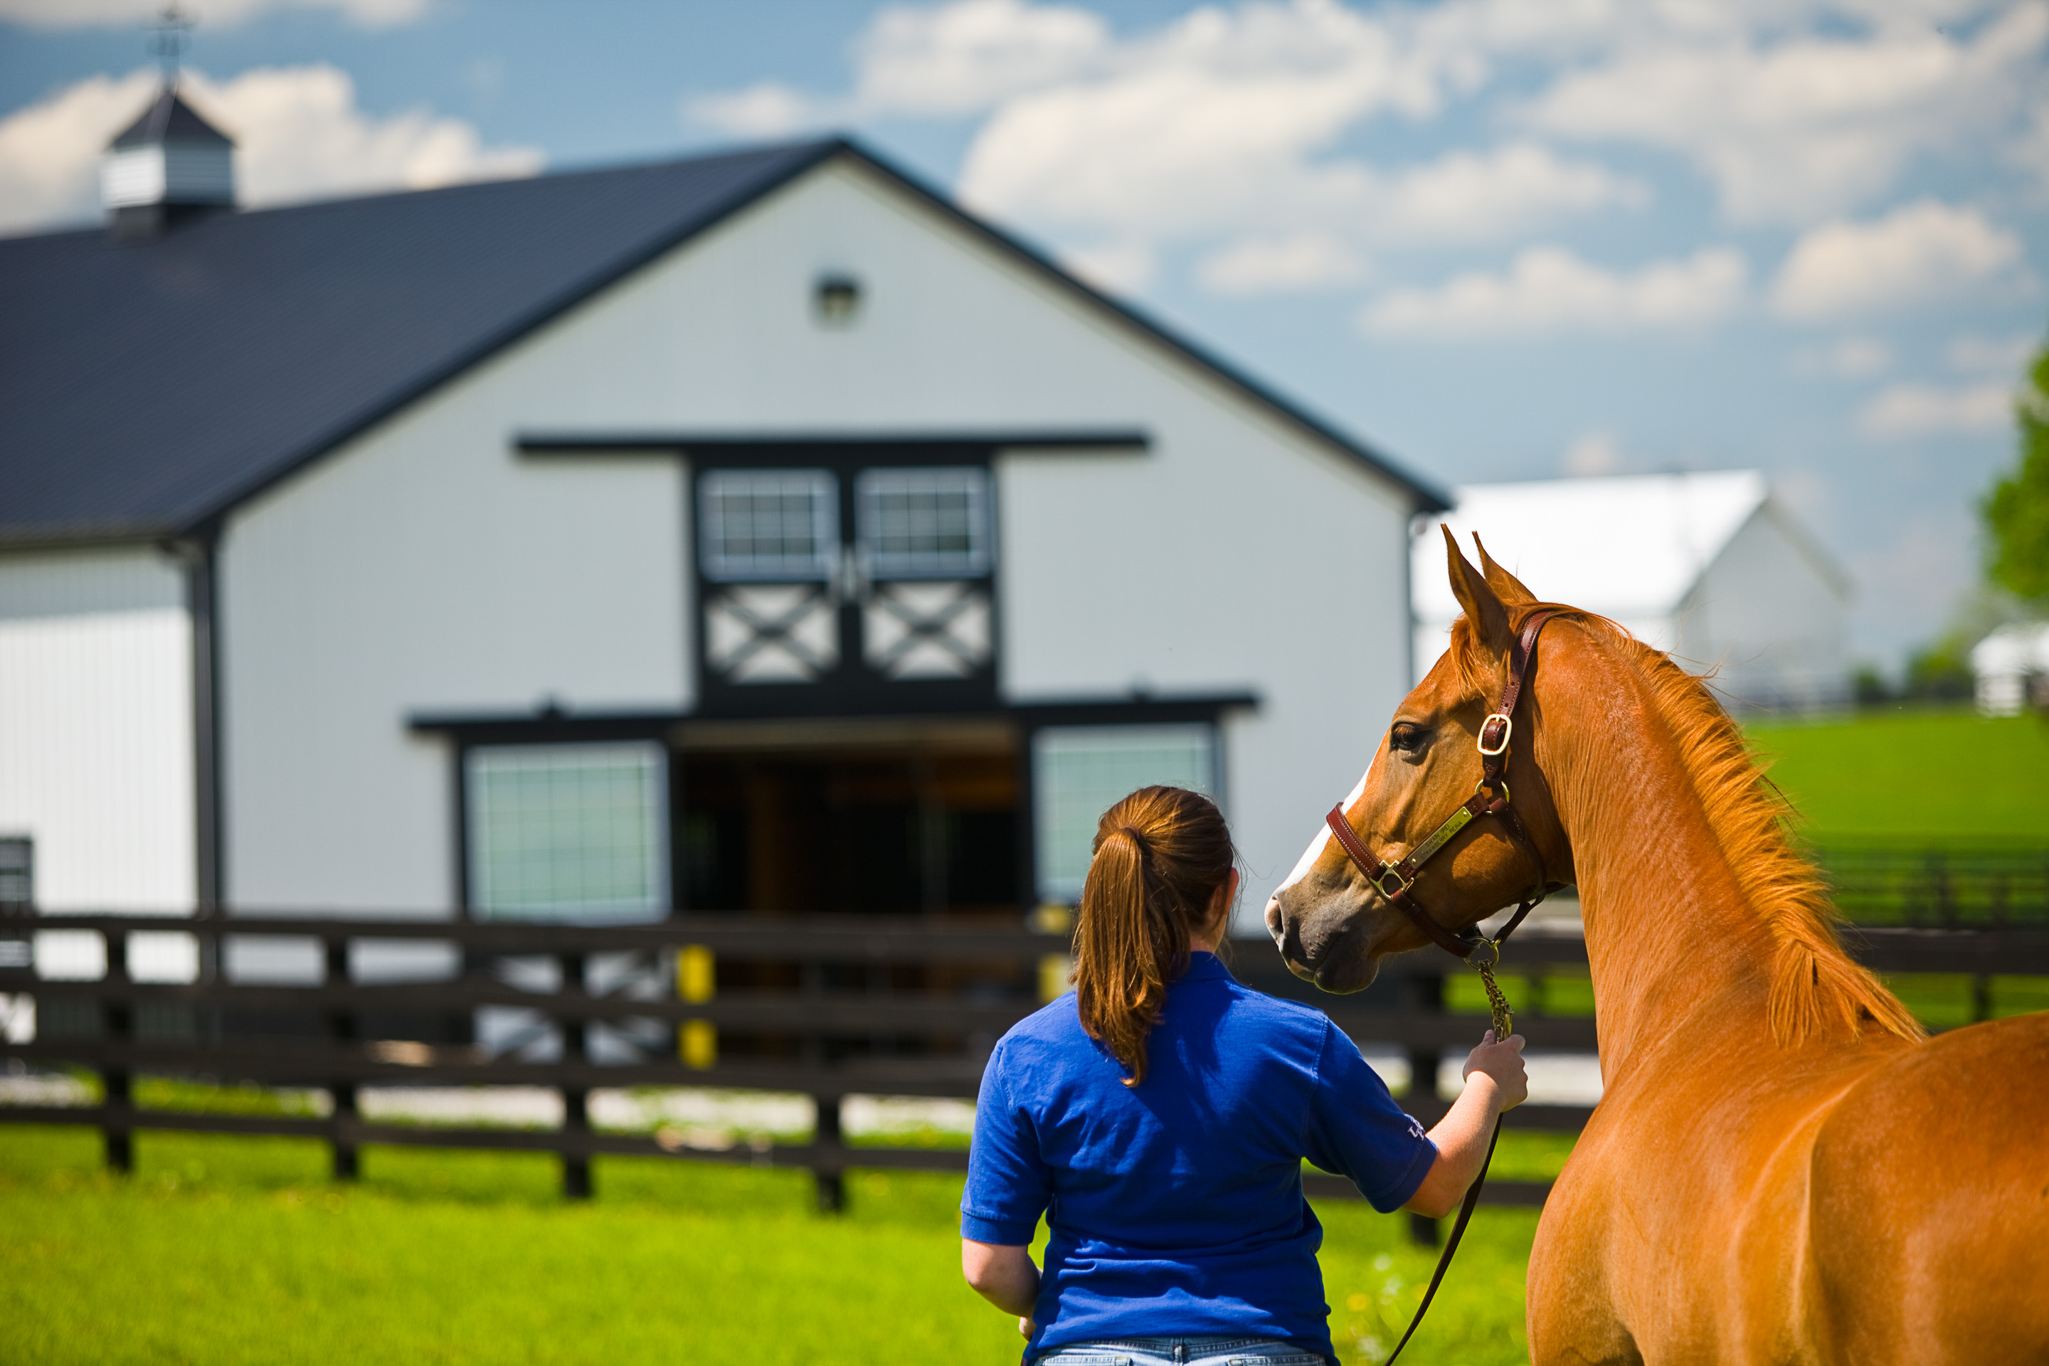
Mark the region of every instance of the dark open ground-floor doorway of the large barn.
[[1014, 920], [1027, 897], [1012, 721], [705, 721], [672, 745], [682, 911]]

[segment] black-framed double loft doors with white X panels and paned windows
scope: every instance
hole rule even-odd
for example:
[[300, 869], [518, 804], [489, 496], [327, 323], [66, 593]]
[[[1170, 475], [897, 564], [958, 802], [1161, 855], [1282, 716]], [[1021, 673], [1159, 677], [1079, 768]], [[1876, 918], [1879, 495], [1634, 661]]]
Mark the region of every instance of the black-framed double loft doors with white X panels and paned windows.
[[699, 471], [705, 711], [846, 715], [994, 700], [990, 469], [951, 455], [955, 463]]

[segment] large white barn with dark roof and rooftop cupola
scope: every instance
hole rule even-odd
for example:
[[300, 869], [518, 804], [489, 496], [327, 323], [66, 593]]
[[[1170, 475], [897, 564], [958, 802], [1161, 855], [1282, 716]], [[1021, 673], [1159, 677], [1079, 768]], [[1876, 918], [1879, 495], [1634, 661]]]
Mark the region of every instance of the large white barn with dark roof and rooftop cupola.
[[0, 897], [1016, 913], [1141, 780], [1258, 885], [1408, 686], [1442, 496], [852, 143], [133, 182], [0, 242]]

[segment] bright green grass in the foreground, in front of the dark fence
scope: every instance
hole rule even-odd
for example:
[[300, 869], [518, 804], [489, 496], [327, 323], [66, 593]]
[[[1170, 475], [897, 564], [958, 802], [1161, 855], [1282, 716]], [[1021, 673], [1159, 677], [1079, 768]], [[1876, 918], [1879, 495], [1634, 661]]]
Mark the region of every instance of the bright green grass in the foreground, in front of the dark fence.
[[[1514, 1137], [1504, 1173], [1563, 1157]], [[856, 1171], [826, 1219], [801, 1171], [711, 1163], [598, 1159], [598, 1198], [563, 1204], [529, 1153], [371, 1147], [346, 1188], [303, 1139], [139, 1133], [135, 1159], [0, 1126], [0, 1362], [1016, 1360], [959, 1278], [959, 1178]], [[1432, 1253], [1402, 1216], [1318, 1212], [1338, 1350], [1379, 1360]], [[1416, 1360], [1527, 1360], [1535, 1227], [1479, 1212]]]

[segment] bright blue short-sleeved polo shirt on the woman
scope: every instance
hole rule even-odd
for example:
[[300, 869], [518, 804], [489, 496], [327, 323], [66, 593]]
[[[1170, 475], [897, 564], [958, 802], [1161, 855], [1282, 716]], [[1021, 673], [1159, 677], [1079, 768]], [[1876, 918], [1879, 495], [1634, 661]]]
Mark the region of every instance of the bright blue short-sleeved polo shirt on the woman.
[[1051, 1237], [1027, 1356], [1106, 1337], [1285, 1337], [1334, 1356], [1301, 1159], [1395, 1210], [1436, 1161], [1358, 1049], [1307, 1006], [1190, 954], [1145, 1040], [1145, 1081], [1082, 1030], [1074, 993], [981, 1073], [961, 1237]]

